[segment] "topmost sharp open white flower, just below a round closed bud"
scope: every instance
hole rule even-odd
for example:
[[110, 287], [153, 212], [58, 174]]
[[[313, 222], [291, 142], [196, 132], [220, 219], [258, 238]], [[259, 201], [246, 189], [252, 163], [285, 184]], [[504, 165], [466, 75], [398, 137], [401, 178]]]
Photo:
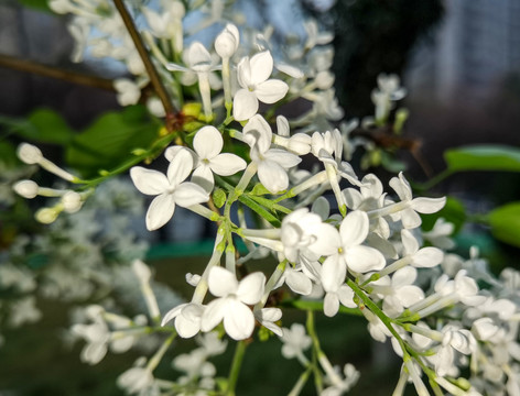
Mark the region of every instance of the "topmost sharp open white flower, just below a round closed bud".
[[279, 79], [268, 79], [273, 68], [273, 58], [269, 51], [245, 57], [237, 66], [239, 89], [232, 100], [232, 117], [246, 121], [253, 117], [259, 101], [272, 105], [282, 99], [289, 86]]

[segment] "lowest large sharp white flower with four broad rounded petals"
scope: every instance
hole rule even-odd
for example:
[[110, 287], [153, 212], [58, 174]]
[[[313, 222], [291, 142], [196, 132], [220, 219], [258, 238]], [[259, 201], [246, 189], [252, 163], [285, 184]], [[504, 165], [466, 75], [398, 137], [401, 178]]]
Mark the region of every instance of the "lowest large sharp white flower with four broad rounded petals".
[[224, 320], [226, 333], [234, 340], [243, 340], [254, 329], [254, 316], [248, 305], [254, 305], [263, 296], [266, 276], [253, 273], [240, 282], [223, 267], [209, 272], [209, 292], [217, 297], [210, 301], [203, 314], [202, 331], [209, 331]]

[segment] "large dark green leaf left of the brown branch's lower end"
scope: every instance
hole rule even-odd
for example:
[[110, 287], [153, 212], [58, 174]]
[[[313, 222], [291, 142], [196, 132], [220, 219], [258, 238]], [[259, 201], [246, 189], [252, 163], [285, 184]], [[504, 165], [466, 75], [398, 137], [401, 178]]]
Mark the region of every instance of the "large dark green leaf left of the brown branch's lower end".
[[66, 161], [84, 176], [95, 176], [100, 169], [119, 165], [136, 148], [149, 147], [158, 133], [141, 106], [108, 112], [74, 138], [67, 147]]

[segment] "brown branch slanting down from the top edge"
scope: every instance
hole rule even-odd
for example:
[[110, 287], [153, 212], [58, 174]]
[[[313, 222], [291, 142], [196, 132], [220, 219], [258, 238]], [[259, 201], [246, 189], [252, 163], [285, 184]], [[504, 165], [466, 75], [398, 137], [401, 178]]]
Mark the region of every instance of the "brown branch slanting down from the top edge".
[[132, 37], [133, 44], [136, 45], [136, 50], [141, 57], [142, 63], [144, 64], [144, 68], [147, 69], [148, 76], [150, 77], [150, 81], [152, 82], [155, 92], [161, 99], [161, 102], [164, 107], [166, 112], [166, 129], [169, 132], [172, 132], [178, 128], [177, 125], [177, 112], [172, 105], [172, 100], [170, 99], [170, 95], [166, 91], [161, 78], [159, 77], [159, 73], [155, 69], [155, 66], [150, 58], [150, 54], [148, 53], [147, 47], [139, 34], [136, 24], [133, 23], [132, 16], [128, 12], [127, 8], [124, 7], [123, 0], [113, 0], [113, 4], [116, 6], [119, 14], [121, 15], [122, 21], [124, 22], [124, 26], [127, 26], [127, 31]]

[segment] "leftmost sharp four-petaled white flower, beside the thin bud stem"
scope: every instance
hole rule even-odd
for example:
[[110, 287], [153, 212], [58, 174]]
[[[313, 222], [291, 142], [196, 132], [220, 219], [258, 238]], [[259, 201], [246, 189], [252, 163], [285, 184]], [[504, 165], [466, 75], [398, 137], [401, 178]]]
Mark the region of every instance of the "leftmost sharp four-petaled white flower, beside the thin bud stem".
[[130, 176], [138, 190], [156, 196], [147, 212], [147, 228], [150, 231], [163, 227], [172, 218], [175, 205], [189, 207], [209, 199], [201, 186], [184, 182], [192, 168], [192, 155], [181, 151], [170, 163], [166, 175], [140, 166], [130, 169]]

